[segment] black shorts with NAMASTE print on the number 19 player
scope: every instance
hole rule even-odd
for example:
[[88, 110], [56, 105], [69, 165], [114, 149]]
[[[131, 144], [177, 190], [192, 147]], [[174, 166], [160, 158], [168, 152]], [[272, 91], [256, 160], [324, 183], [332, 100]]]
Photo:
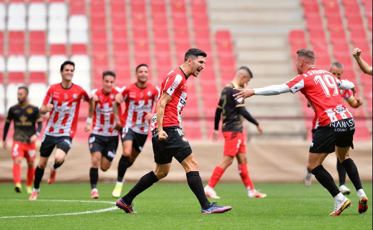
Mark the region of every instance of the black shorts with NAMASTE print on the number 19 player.
[[354, 133], [355, 121], [353, 118], [339, 120], [327, 126], [319, 126], [313, 134], [310, 152], [332, 153], [335, 151], [335, 146], [341, 148], [351, 146], [353, 149]]

